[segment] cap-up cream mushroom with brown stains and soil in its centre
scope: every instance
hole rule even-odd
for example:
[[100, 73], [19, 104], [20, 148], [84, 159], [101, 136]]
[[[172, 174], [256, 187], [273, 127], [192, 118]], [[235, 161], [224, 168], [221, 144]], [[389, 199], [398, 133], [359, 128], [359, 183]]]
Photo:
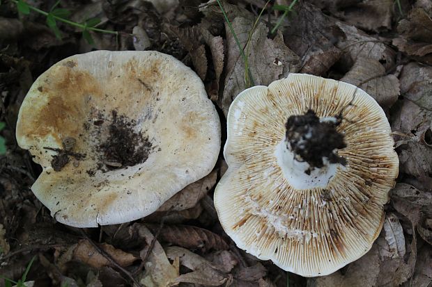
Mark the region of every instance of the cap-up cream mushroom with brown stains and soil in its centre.
[[93, 51], [31, 86], [17, 142], [43, 171], [31, 187], [56, 220], [118, 224], [153, 213], [206, 176], [220, 122], [203, 83], [156, 51]]

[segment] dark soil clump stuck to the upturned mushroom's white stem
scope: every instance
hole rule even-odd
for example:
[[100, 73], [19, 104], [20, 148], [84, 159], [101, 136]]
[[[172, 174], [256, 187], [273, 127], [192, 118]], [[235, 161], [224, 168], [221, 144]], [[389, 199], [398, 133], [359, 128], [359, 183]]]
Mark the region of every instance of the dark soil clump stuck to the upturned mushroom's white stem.
[[346, 147], [344, 135], [336, 130], [337, 122], [320, 122], [314, 110], [308, 110], [304, 115], [288, 117], [285, 127], [288, 149], [310, 165], [304, 173], [323, 167], [323, 158], [330, 163], [346, 164], [344, 158], [334, 153], [335, 149]]

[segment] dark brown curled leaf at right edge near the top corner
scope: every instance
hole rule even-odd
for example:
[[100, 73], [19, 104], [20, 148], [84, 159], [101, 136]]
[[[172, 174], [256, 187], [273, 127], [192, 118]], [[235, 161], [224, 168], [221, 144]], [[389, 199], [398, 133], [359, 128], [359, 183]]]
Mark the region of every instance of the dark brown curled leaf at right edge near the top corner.
[[422, 8], [413, 8], [407, 19], [401, 20], [397, 27], [401, 34], [393, 40], [399, 50], [410, 56], [417, 56], [426, 64], [432, 64], [432, 19]]

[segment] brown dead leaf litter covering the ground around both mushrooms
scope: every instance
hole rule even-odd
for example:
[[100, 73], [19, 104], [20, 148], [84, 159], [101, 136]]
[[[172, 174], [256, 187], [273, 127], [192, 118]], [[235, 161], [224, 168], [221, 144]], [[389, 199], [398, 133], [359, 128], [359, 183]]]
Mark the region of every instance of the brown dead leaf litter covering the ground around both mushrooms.
[[[430, 1], [400, 1], [402, 13], [390, 0], [299, 1], [274, 34], [281, 14], [272, 6], [290, 1], [270, 1], [265, 8], [258, 0], [221, 3], [240, 47], [217, 1], [62, 1], [70, 19], [98, 18], [101, 28], [121, 32], [92, 32], [93, 45], [63, 24], [58, 40], [43, 17], [18, 17], [15, 6], [2, 1], [0, 122], [6, 122], [1, 136], [8, 153], [0, 157], [0, 274], [20, 279], [38, 254], [28, 281], [41, 286], [430, 286]], [[182, 60], [222, 110], [222, 126], [233, 99], [252, 83], [268, 85], [302, 72], [359, 85], [389, 117], [400, 160], [372, 248], [334, 274], [311, 279], [287, 278], [271, 262], [238, 249], [213, 205], [214, 187], [226, 171], [222, 154], [207, 177], [142, 220], [88, 229], [88, 238], [54, 222], [30, 191], [40, 170], [17, 148], [13, 126], [33, 79], [58, 60], [92, 49], [155, 49]]]

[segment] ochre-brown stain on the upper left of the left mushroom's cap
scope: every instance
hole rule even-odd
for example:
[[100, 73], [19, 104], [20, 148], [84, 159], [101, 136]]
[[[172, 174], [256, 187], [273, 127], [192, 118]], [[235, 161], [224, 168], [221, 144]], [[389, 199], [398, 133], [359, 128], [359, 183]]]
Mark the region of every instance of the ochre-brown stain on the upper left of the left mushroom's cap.
[[71, 66], [54, 67], [38, 85], [40, 95], [23, 114], [27, 117], [22, 126], [23, 135], [32, 138], [51, 135], [61, 145], [62, 134], [79, 134], [82, 129], [79, 123], [86, 118], [88, 108], [86, 96], [100, 97], [103, 93], [91, 74]]

